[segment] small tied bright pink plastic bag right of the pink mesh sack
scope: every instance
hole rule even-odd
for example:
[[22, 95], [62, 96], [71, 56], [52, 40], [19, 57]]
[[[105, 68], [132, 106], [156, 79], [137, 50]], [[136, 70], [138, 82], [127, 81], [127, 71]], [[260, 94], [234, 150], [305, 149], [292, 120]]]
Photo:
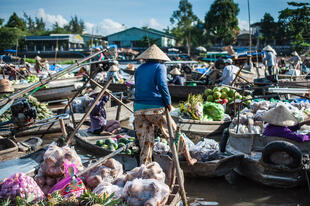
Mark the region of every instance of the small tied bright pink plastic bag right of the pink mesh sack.
[[58, 192], [58, 194], [60, 194], [63, 198], [81, 196], [84, 191], [86, 191], [86, 187], [80, 178], [76, 178], [74, 176], [77, 173], [76, 165], [69, 164], [68, 161], [65, 161], [64, 165], [65, 178], [54, 185], [48, 193], [52, 194], [54, 192]]

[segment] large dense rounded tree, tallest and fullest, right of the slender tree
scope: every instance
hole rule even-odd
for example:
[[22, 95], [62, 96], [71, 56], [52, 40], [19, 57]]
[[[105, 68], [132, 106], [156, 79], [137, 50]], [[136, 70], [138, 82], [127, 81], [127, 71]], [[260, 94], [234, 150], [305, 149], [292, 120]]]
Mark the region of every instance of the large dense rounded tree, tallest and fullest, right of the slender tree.
[[213, 43], [232, 44], [239, 34], [238, 4], [233, 0], [215, 0], [205, 16], [205, 29]]

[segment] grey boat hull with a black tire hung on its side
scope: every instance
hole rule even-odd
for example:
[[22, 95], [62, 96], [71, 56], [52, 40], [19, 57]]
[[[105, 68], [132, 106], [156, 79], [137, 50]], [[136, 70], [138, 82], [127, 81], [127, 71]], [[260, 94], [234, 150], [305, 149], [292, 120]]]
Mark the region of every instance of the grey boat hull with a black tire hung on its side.
[[[285, 148], [279, 147], [278, 151], [270, 155], [278, 155], [277, 158], [282, 160], [283, 165], [275, 165], [263, 161], [263, 153], [266, 154], [266, 146], [269, 143], [279, 142], [284, 144]], [[236, 134], [233, 130], [229, 131], [229, 138], [226, 145], [226, 151], [229, 154], [243, 154], [238, 168], [235, 171], [252, 179], [258, 183], [279, 188], [292, 188], [306, 183], [305, 171], [302, 169], [302, 164], [299, 167], [290, 168], [284, 165], [285, 161], [296, 161], [291, 159], [286, 149], [291, 150], [293, 146], [297, 146], [302, 154], [308, 154], [310, 142], [298, 143], [289, 139], [280, 137], [266, 137], [260, 134]], [[294, 150], [295, 151], [295, 150]], [[282, 152], [282, 153], [281, 153]], [[302, 155], [300, 154], [300, 156]], [[288, 155], [288, 156], [283, 156]], [[294, 163], [294, 162], [293, 162]]]

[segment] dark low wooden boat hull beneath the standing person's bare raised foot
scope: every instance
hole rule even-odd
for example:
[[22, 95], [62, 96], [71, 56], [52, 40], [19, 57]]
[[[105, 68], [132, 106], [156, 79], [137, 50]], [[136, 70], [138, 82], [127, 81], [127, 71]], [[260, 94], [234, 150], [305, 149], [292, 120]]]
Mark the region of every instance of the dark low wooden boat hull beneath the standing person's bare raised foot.
[[[164, 170], [169, 170], [173, 161], [168, 155], [153, 155], [154, 161], [158, 162]], [[190, 166], [186, 161], [180, 160], [180, 166], [186, 177], [221, 177], [233, 169], [237, 168], [243, 159], [243, 155], [228, 155], [220, 154], [219, 158], [212, 161], [197, 162], [195, 165]]]

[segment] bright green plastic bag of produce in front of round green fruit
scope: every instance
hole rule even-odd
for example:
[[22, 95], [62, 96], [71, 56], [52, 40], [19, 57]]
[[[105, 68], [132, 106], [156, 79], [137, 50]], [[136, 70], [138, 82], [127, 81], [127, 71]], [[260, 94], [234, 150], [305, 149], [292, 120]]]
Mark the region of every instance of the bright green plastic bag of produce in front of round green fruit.
[[224, 117], [224, 107], [218, 103], [205, 102], [203, 113], [214, 121], [221, 121]]

